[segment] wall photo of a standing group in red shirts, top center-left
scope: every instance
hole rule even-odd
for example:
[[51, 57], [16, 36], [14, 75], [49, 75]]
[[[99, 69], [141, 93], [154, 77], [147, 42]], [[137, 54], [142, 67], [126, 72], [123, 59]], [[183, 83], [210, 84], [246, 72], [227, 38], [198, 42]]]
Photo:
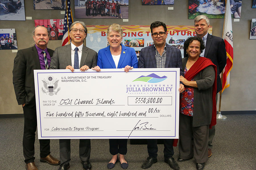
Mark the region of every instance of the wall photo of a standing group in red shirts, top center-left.
[[128, 18], [129, 0], [80, 0], [75, 18]]

